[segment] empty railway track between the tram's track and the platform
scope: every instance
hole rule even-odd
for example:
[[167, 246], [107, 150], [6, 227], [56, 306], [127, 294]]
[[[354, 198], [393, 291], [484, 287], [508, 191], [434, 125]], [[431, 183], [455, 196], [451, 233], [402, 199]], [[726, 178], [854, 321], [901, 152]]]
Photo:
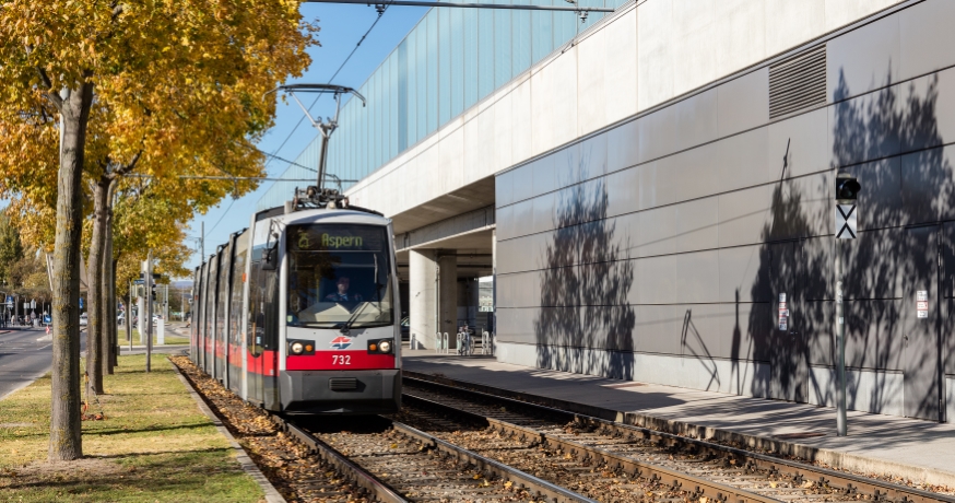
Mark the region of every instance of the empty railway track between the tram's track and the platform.
[[[627, 487], [650, 487], [657, 492], [646, 495], [657, 501], [955, 503], [943, 494], [408, 376], [404, 403], [485, 421], [490, 431], [538, 445], [550, 457], [639, 480]], [[669, 492], [660, 493], [662, 488]]]

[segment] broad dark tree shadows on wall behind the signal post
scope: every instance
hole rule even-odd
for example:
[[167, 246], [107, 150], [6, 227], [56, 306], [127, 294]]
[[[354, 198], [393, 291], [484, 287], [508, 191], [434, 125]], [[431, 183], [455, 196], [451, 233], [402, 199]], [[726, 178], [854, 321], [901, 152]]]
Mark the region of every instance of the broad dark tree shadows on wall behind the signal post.
[[[922, 382], [918, 396], [907, 391], [906, 400], [913, 400], [907, 414], [924, 417], [935, 403], [939, 348], [907, 344], [905, 335], [919, 329], [911, 326], [912, 289], [938, 283], [938, 253], [951, 249], [938, 223], [951, 213], [952, 166], [943, 149], [931, 149], [943, 144], [935, 112], [938, 77], [889, 84], [887, 79], [885, 89], [849, 98], [840, 74], [830, 116], [830, 171], [799, 178], [785, 173], [773, 192], [751, 290], [758, 302], [752, 305], [747, 327], [754, 358], [770, 366], [753, 382], [755, 396], [835, 403], [834, 245], [833, 235], [825, 234], [834, 226], [835, 175], [848, 173], [862, 185], [857, 211], [863, 232], [841, 245], [846, 364], [866, 371], [865, 376], [848, 373], [848, 406], [900, 413], [899, 371], [906, 370], [907, 360], [919, 359], [928, 370], [916, 375], [909, 369], [906, 375], [909, 383]], [[920, 224], [935, 225], [912, 229]], [[785, 330], [776, 309], [780, 293], [787, 293], [791, 313]], [[941, 317], [932, 323], [941, 324]]]

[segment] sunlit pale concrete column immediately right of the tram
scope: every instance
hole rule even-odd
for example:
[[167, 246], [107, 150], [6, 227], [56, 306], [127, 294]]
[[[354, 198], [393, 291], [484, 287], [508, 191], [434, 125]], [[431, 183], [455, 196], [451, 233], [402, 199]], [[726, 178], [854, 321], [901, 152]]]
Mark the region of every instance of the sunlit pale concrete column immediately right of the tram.
[[[434, 349], [437, 324], [437, 254], [433, 249], [409, 252], [409, 321], [420, 347]], [[450, 334], [450, 332], [449, 332]]]

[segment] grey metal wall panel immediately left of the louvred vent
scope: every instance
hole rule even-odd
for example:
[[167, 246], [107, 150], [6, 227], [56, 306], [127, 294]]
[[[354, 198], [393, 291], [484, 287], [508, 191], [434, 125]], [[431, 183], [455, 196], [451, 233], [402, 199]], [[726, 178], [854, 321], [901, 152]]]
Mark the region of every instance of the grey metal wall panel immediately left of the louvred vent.
[[761, 68], [717, 87], [719, 137], [769, 121], [769, 69]]

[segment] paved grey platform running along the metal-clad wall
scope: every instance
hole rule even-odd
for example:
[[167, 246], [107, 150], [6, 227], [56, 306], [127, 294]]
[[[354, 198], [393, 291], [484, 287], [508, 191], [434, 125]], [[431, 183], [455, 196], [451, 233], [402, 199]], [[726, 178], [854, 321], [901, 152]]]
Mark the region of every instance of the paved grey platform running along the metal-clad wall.
[[953, 424], [850, 411], [849, 436], [839, 437], [835, 409], [827, 407], [546, 371], [493, 356], [402, 354], [406, 371], [577, 403], [580, 413], [955, 488]]

